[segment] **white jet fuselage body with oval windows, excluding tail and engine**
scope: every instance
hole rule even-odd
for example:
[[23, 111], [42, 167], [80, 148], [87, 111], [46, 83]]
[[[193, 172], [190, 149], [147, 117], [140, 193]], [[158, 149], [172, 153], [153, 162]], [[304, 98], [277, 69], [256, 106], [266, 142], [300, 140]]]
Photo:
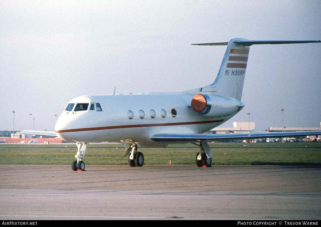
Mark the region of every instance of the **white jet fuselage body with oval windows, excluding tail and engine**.
[[[238, 112], [224, 117], [206, 117], [187, 107], [193, 96], [195, 93], [79, 96], [68, 102], [68, 105], [74, 104], [74, 108], [63, 111], [55, 131], [61, 139], [70, 142], [132, 140], [142, 146], [162, 146], [166, 144], [153, 142], [151, 136], [166, 132], [204, 133]], [[224, 102], [222, 97], [217, 98]], [[88, 104], [87, 110], [74, 111], [80, 103]], [[96, 103], [102, 111], [97, 111]], [[91, 109], [92, 104], [94, 108]]]

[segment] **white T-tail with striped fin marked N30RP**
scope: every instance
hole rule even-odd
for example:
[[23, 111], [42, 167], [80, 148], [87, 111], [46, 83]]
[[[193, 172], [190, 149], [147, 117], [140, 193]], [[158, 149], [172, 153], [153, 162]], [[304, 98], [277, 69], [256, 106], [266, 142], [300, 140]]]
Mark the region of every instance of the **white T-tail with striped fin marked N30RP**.
[[247, 40], [234, 38], [230, 41], [224, 42], [192, 44], [199, 46], [227, 45], [227, 48], [215, 81], [211, 85], [187, 92], [210, 93], [231, 97], [241, 101], [250, 46], [255, 44], [293, 44], [315, 42], [320, 42], [320, 40]]

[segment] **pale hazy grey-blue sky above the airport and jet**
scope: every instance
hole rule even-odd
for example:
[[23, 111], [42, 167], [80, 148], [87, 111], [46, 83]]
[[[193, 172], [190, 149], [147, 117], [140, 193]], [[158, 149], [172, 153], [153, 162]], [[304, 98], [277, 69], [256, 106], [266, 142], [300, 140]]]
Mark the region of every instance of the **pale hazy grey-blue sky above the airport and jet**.
[[[321, 1], [0, 0], [0, 130], [54, 130], [88, 94], [180, 92], [213, 83], [226, 46], [321, 39]], [[254, 45], [242, 101], [224, 123], [320, 127], [321, 43]], [[137, 103], [139, 105], [139, 103]], [[33, 129], [33, 123], [31, 126]]]

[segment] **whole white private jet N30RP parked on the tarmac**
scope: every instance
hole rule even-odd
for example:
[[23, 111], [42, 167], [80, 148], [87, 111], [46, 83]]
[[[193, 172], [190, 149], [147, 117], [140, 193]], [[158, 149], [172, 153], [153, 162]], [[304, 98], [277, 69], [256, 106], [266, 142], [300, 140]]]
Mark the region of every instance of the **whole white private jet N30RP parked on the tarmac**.
[[55, 135], [77, 144], [72, 169], [84, 170], [87, 143], [122, 142], [130, 166], [143, 166], [142, 147], [166, 147], [192, 143], [200, 147], [197, 166], [211, 166], [210, 141], [321, 135], [313, 132], [202, 134], [226, 122], [244, 108], [241, 101], [250, 46], [256, 44], [314, 43], [320, 40], [264, 41], [235, 38], [226, 42], [192, 45], [227, 45], [215, 81], [185, 92], [150, 94], [84, 95], [70, 100], [58, 118], [55, 131], [22, 131], [32, 135]]

